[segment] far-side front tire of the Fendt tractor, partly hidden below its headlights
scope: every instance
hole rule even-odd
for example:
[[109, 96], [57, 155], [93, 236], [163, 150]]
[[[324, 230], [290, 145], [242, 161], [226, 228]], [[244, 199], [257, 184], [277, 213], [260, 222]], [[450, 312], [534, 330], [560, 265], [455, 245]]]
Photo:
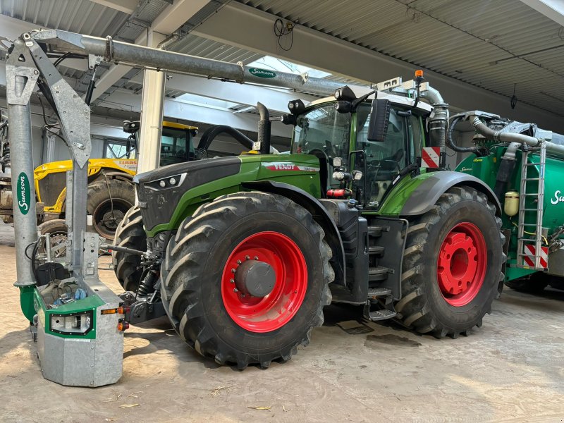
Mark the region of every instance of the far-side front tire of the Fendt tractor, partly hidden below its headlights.
[[[114, 245], [133, 248], [134, 250], [147, 250], [147, 234], [143, 230], [143, 221], [139, 207], [131, 207], [119, 223], [114, 238]], [[111, 252], [114, 272], [123, 289], [135, 292], [141, 281], [141, 257], [126, 254], [125, 252]]]

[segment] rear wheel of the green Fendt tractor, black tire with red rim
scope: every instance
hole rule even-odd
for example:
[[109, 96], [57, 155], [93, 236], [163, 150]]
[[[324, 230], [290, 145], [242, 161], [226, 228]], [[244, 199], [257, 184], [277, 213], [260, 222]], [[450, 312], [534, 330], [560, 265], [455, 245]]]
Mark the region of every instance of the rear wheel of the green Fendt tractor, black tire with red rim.
[[437, 338], [482, 326], [503, 279], [500, 228], [494, 204], [469, 187], [450, 188], [412, 221], [396, 304], [403, 324]]

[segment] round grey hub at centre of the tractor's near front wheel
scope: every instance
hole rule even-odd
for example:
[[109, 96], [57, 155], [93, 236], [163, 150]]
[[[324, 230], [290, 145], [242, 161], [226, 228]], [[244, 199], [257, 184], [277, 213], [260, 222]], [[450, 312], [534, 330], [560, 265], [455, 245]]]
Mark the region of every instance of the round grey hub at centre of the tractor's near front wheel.
[[252, 297], [265, 297], [274, 289], [276, 272], [268, 263], [257, 260], [243, 262], [235, 271], [235, 286]]

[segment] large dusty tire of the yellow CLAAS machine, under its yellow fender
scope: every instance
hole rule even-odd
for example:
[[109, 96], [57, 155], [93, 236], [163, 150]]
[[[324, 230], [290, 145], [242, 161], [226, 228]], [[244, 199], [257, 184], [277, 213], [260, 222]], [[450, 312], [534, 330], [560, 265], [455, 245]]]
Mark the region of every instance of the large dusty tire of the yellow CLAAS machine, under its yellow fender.
[[133, 183], [122, 179], [97, 180], [88, 185], [88, 214], [94, 231], [113, 240], [125, 213], [135, 204]]

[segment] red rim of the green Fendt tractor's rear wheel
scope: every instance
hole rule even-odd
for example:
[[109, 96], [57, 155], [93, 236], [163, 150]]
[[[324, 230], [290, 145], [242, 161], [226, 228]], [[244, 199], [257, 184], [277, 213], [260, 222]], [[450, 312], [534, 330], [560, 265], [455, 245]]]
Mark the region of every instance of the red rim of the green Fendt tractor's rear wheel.
[[474, 300], [486, 276], [487, 251], [484, 235], [473, 223], [458, 223], [446, 235], [437, 260], [437, 281], [448, 304], [461, 307]]

